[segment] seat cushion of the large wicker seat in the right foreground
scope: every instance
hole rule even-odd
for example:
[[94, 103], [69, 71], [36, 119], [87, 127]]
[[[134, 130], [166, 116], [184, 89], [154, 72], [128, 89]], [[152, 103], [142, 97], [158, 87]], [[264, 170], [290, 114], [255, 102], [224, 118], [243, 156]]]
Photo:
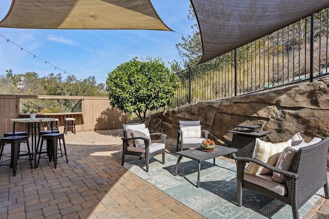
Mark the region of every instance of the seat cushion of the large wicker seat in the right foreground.
[[279, 195], [285, 195], [288, 192], [288, 188], [285, 184], [279, 184], [272, 181], [272, 174], [249, 174], [244, 172], [243, 180], [256, 184], [258, 186], [269, 189]]

